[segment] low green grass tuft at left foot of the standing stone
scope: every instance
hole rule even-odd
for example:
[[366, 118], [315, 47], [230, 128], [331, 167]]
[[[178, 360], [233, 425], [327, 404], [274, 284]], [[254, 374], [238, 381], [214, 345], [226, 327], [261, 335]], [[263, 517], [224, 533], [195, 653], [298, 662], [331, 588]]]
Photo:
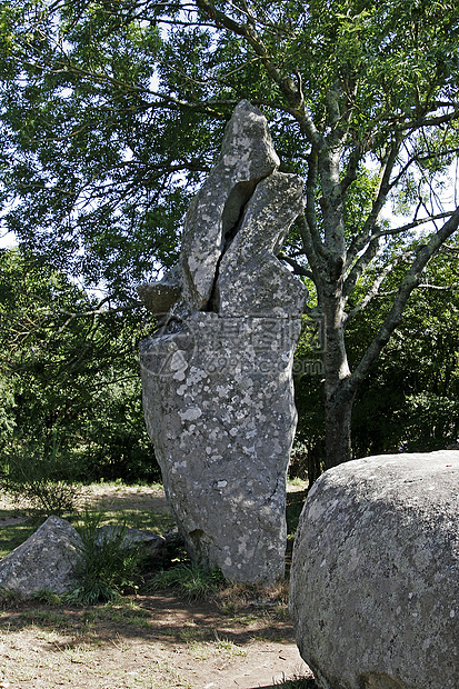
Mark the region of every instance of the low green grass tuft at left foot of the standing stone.
[[221, 588], [223, 577], [219, 570], [210, 572], [197, 565], [180, 562], [158, 572], [149, 582], [149, 590], [177, 589], [187, 600], [213, 598]]

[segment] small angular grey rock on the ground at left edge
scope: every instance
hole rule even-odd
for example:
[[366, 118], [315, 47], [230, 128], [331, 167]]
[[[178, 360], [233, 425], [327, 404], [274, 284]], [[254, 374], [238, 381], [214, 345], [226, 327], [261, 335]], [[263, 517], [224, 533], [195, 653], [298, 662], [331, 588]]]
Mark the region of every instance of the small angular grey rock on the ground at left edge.
[[70, 591], [76, 583], [79, 546], [80, 537], [68, 521], [48, 517], [26, 542], [0, 560], [0, 587], [23, 596], [40, 589]]

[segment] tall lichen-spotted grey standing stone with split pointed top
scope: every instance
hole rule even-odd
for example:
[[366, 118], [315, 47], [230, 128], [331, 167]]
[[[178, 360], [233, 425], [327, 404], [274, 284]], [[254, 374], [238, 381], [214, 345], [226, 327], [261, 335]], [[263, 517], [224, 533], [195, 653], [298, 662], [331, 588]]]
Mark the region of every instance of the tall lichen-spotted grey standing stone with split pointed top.
[[266, 583], [283, 573], [306, 298], [276, 258], [303, 180], [278, 166], [265, 117], [241, 101], [190, 204], [179, 267], [139, 288], [151, 311], [168, 311], [141, 342], [143, 407], [187, 549], [229, 579]]

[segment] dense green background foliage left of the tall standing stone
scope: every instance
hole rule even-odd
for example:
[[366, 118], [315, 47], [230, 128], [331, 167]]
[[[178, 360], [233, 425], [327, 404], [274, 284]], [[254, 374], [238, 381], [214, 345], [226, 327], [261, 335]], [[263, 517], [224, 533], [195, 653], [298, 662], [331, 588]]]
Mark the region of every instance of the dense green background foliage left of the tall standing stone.
[[2, 463], [24, 446], [62, 455], [80, 480], [158, 476], [137, 356], [149, 323], [107, 307], [34, 257], [0, 251]]

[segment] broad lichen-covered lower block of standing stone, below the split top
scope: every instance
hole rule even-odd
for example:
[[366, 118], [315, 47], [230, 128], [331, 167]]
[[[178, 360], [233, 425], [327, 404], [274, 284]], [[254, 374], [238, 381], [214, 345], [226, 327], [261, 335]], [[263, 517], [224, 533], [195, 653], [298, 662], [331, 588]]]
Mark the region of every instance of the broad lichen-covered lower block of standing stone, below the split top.
[[147, 428], [196, 562], [238, 581], [283, 575], [299, 319], [197, 312], [141, 343]]

